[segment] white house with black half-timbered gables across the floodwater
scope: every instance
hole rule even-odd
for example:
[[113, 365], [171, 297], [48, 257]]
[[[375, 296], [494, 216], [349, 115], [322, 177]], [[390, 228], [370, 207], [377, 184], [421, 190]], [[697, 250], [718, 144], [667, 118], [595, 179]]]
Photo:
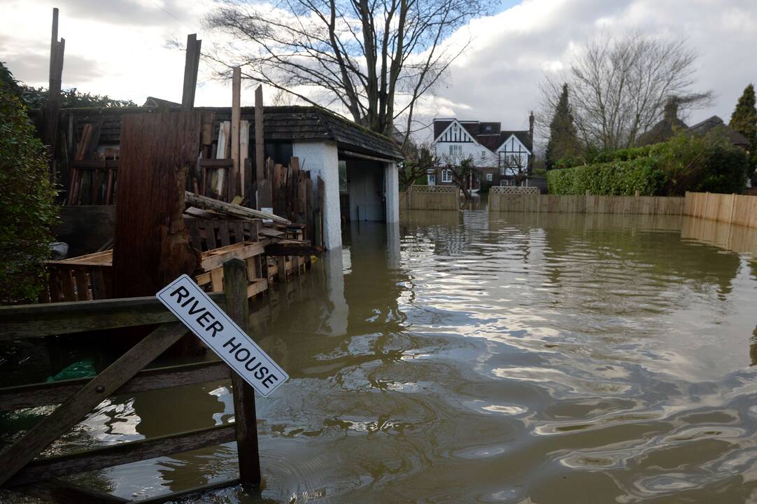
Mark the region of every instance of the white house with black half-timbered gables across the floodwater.
[[428, 185], [452, 184], [452, 173], [445, 166], [459, 166], [464, 159], [475, 165], [475, 173], [465, 181], [467, 189], [480, 189], [481, 183], [527, 185], [533, 167], [533, 112], [528, 124], [528, 130], [516, 131], [502, 130], [499, 122], [435, 119], [432, 146], [440, 162], [428, 174]]

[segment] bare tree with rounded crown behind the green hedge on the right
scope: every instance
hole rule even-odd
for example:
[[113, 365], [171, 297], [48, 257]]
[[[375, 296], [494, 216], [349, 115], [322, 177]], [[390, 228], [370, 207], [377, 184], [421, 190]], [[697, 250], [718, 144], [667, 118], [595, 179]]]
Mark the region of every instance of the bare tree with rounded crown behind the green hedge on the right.
[[668, 99], [678, 97], [688, 108], [710, 102], [711, 92], [690, 91], [696, 58], [683, 39], [603, 34], [578, 51], [567, 73], [547, 74], [542, 83], [547, 114], [541, 115], [552, 117], [562, 84], [568, 83], [575, 126], [587, 146], [633, 146], [661, 119]]

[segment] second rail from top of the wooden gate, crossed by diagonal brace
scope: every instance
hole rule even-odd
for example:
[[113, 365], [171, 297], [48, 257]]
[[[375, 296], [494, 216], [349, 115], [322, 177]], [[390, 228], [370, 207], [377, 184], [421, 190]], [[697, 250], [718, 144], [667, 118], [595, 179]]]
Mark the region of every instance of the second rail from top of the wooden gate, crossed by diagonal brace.
[[[226, 380], [229, 366], [221, 361], [151, 368], [139, 371], [114, 396], [134, 394], [148, 390], [182, 387], [206, 381]], [[34, 406], [60, 404], [85, 386], [91, 378], [30, 383], [0, 389], [0, 412]]]

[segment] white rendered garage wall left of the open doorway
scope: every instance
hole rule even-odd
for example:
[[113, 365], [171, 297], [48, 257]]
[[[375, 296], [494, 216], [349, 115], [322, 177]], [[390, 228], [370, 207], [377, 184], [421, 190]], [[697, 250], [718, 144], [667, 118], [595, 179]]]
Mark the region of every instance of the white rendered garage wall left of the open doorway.
[[323, 243], [326, 249], [341, 247], [339, 216], [339, 154], [336, 142], [294, 142], [292, 155], [300, 158], [300, 166], [310, 171], [313, 183], [318, 177], [326, 186], [323, 209]]

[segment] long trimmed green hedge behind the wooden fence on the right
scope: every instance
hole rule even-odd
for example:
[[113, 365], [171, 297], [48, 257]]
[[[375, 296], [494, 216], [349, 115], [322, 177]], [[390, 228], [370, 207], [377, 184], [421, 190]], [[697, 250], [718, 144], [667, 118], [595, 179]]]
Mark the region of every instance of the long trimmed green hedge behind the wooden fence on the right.
[[[634, 149], [599, 152], [592, 161], [551, 170], [551, 194], [683, 196], [686, 191], [740, 193], [746, 185], [749, 158], [720, 132], [681, 134], [668, 142]], [[569, 166], [577, 160], [560, 160]]]

